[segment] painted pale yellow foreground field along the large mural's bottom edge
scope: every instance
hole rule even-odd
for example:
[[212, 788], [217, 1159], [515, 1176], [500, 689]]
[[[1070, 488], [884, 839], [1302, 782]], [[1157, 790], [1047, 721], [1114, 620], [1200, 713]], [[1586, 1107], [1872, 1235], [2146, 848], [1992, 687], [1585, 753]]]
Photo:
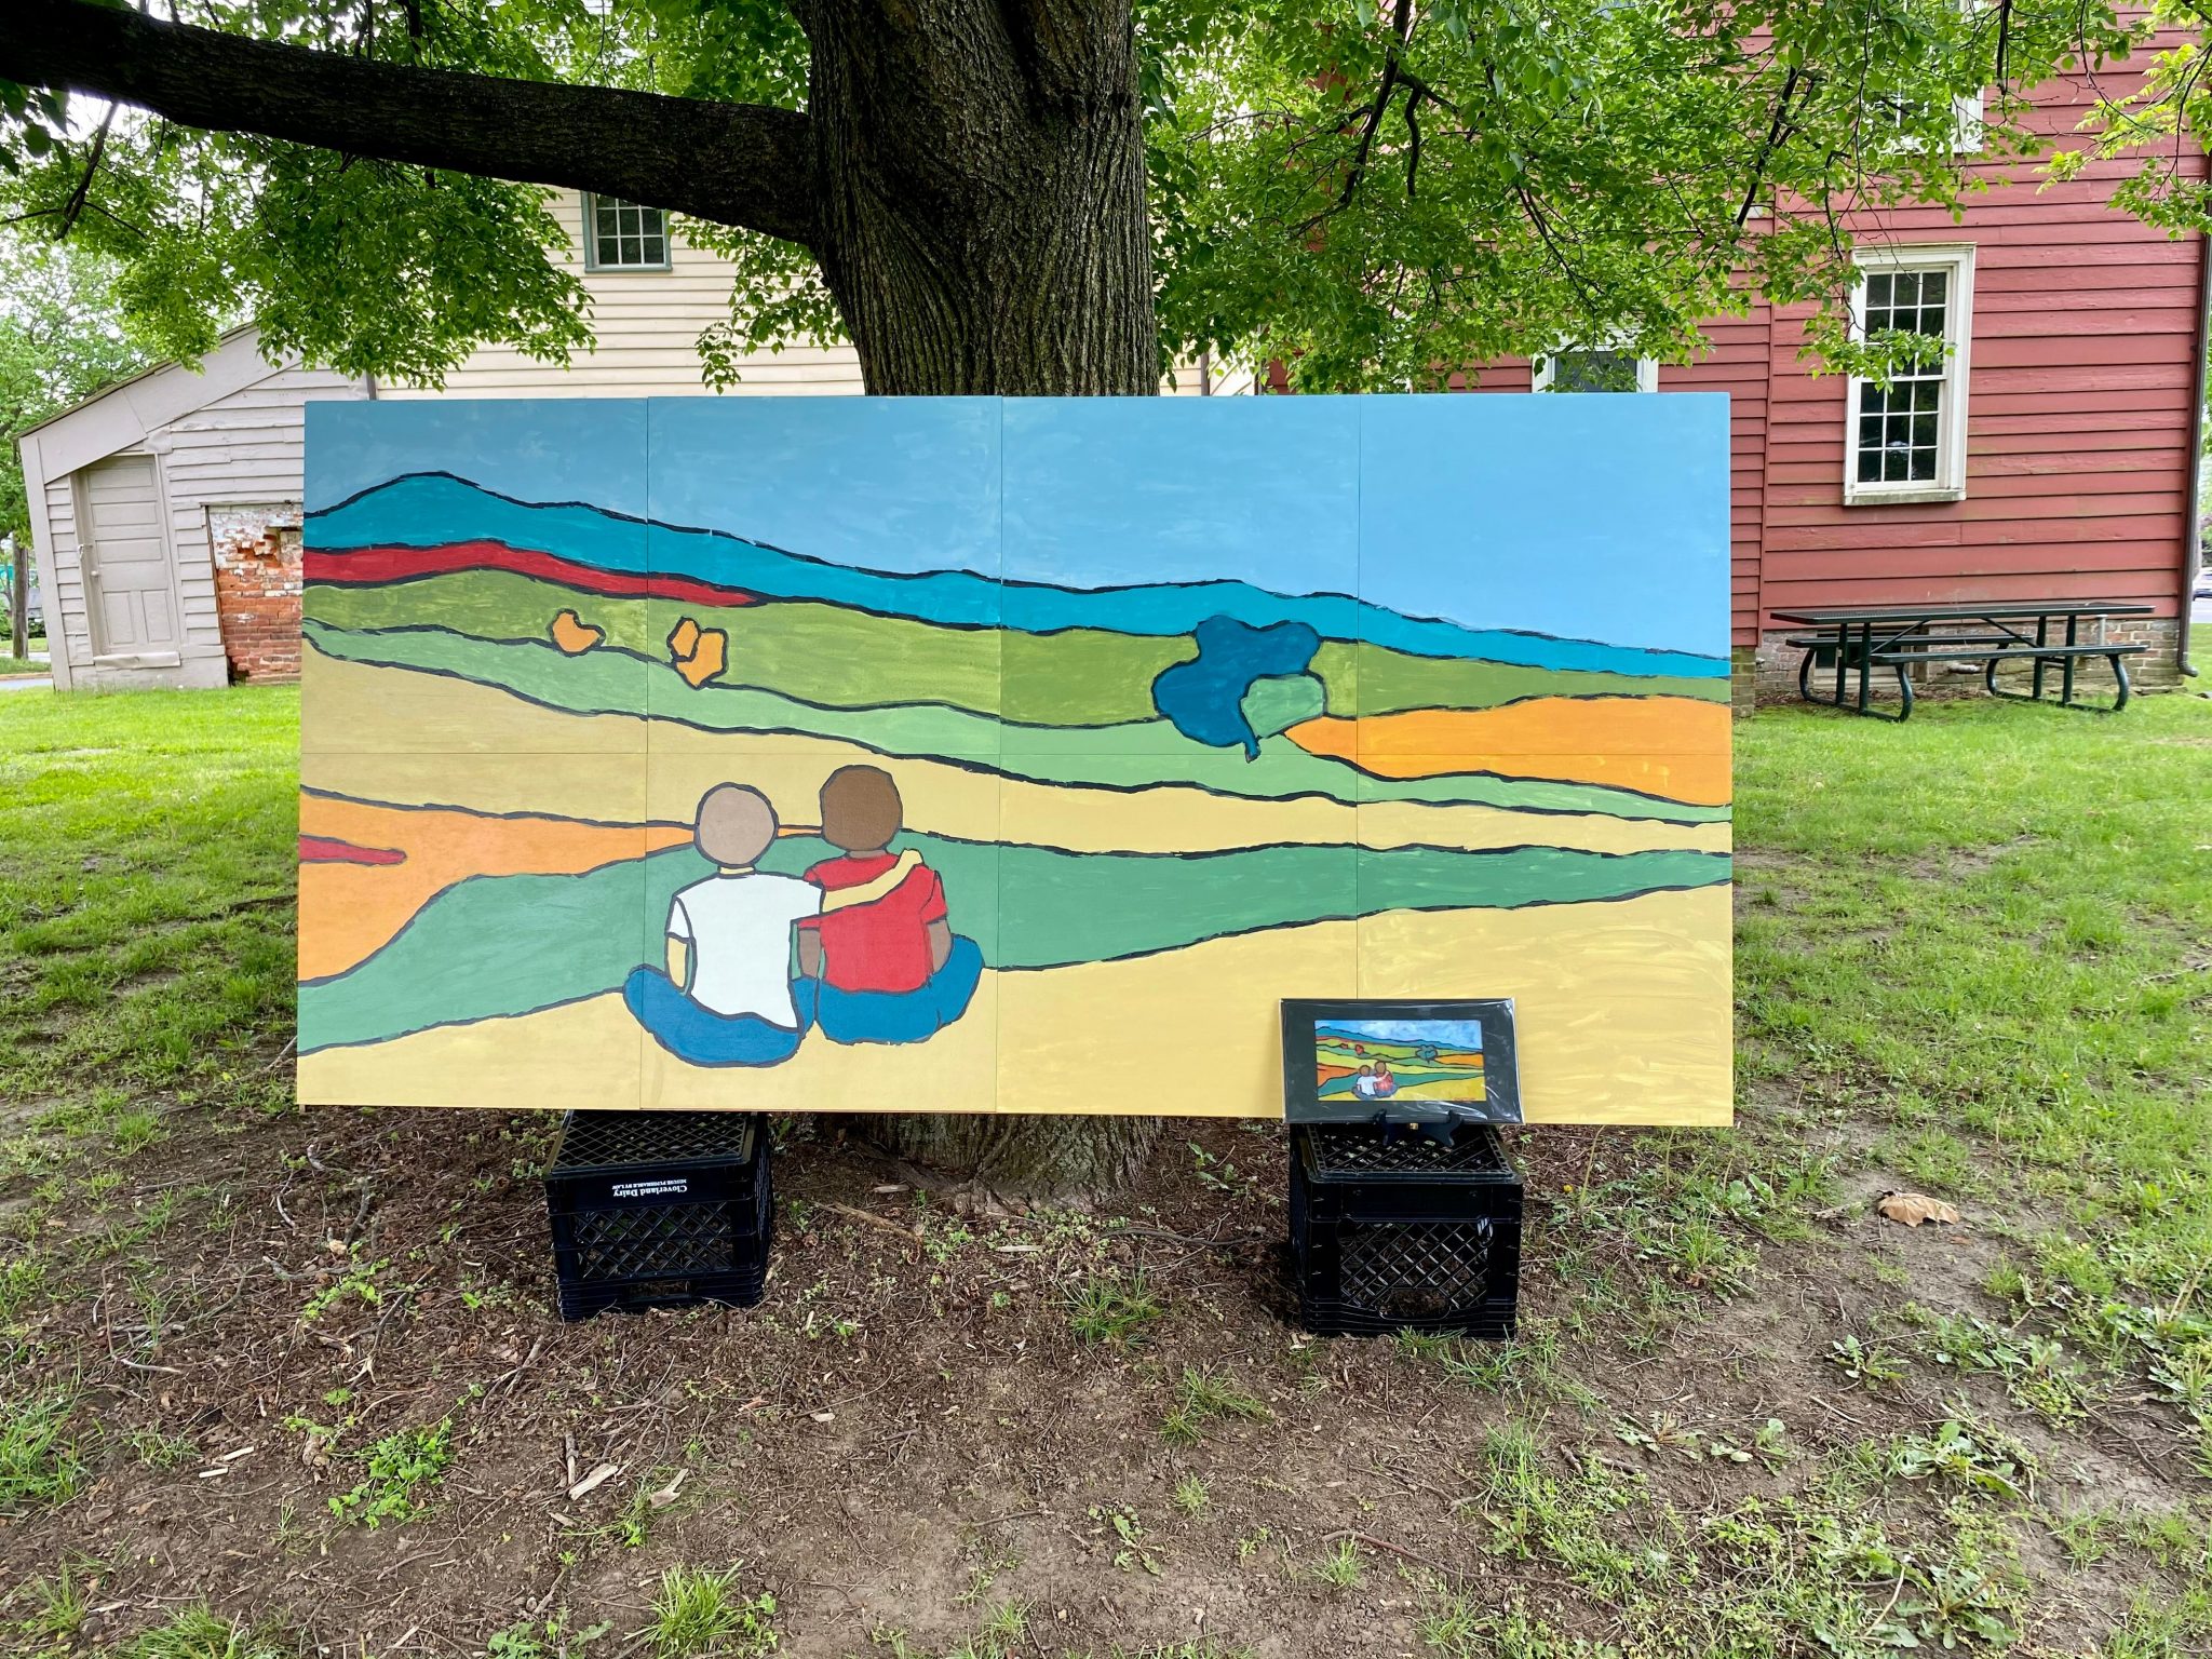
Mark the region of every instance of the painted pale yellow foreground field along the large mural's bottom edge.
[[[1177, 1099], [1223, 1117], [1281, 1110], [1274, 1000], [1232, 1026], [1206, 1015], [1225, 982], [1248, 975], [1292, 998], [1493, 995], [1511, 984], [1528, 1121], [1725, 1124], [1730, 1113], [1728, 889], [1646, 894], [1613, 905], [1517, 911], [1389, 914], [1223, 938], [1166, 956], [1040, 973], [987, 973], [975, 1004], [911, 1048], [838, 1048], [814, 1035], [772, 1075], [774, 1108], [805, 1110], [867, 1093], [900, 1110], [1051, 1110], [1084, 1099], [1157, 1113], [1157, 1073], [1177, 1068]], [[1141, 1029], [1144, 1044], [1128, 1042]], [[637, 1099], [588, 1097], [580, 1077], [608, 1075], [606, 1055], [646, 1060]], [[1265, 1079], [1254, 1084], [1254, 1079]], [[661, 1053], [602, 995], [513, 1020], [420, 1031], [299, 1062], [307, 1104], [385, 1099], [451, 1106], [538, 1099], [562, 1106], [763, 1106], [763, 1073], [701, 1071]]]

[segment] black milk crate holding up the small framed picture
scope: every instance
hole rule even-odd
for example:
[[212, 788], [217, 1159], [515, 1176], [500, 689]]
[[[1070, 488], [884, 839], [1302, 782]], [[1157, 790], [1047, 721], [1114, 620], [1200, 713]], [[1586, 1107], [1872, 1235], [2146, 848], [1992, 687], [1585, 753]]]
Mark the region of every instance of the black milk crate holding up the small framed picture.
[[1451, 1146], [1371, 1124], [1290, 1133], [1292, 1290], [1318, 1336], [1511, 1336], [1520, 1228], [1522, 1181], [1486, 1124]]

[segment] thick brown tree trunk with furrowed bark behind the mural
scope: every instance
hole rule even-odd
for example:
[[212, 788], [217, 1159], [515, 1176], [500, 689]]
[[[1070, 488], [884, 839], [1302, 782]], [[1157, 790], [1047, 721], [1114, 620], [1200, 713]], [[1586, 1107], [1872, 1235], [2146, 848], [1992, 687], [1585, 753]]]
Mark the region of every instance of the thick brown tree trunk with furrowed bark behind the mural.
[[[889, 15], [887, 15], [889, 13]], [[1159, 389], [1126, 0], [801, 7], [816, 241], [867, 389]], [[1106, 1194], [1157, 1117], [872, 1117], [898, 1157], [1020, 1197]]]

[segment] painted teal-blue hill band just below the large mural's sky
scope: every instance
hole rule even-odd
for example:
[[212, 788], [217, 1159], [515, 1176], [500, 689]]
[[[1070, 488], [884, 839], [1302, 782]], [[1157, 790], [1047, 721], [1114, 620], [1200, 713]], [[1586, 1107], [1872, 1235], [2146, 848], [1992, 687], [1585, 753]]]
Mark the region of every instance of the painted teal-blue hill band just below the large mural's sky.
[[863, 571], [748, 542], [728, 531], [650, 524], [584, 502], [518, 502], [451, 473], [394, 478], [336, 507], [307, 513], [305, 524], [310, 553], [447, 542], [500, 542], [555, 553], [602, 571], [679, 573], [774, 599], [823, 599], [956, 628], [1022, 633], [1104, 628], [1179, 637], [1194, 633], [1208, 617], [1232, 617], [1252, 628], [1303, 622], [1323, 639], [1367, 641], [1413, 657], [1467, 657], [1608, 675], [1728, 677], [1725, 657], [1637, 650], [1509, 628], [1464, 628], [1436, 617], [1407, 617], [1343, 593], [1285, 595], [1248, 582], [1060, 588], [1042, 582], [998, 582], [971, 571], [920, 575]]

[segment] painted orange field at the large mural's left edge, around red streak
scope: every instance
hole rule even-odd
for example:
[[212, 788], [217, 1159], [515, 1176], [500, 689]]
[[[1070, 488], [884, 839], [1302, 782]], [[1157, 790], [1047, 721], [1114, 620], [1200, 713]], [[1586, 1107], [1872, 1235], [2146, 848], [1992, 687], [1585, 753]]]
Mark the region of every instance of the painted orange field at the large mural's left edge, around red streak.
[[310, 863], [299, 900], [316, 925], [299, 936], [299, 978], [319, 980], [374, 953], [407, 918], [462, 876], [580, 876], [690, 841], [686, 825], [606, 825], [575, 818], [493, 818], [449, 807], [385, 807], [301, 794], [305, 836], [396, 847], [396, 865]]

